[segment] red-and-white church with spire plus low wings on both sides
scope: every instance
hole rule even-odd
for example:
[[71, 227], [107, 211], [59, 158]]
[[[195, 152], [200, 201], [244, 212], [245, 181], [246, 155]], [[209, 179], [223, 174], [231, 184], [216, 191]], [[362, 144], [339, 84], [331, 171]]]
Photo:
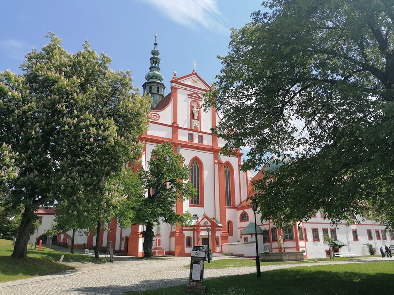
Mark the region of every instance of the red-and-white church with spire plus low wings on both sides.
[[[230, 252], [234, 255], [255, 257], [255, 223], [248, 196], [253, 194], [251, 179], [263, 177], [264, 168], [253, 176], [242, 172], [241, 152], [235, 156], [223, 156], [220, 151], [225, 142], [211, 132], [221, 120], [215, 108], [202, 111], [203, 94], [211, 88], [195, 69], [183, 76], [174, 75], [170, 91], [164, 95], [165, 85], [160, 73], [159, 50], [155, 36], [151, 51], [149, 72], [142, 85], [143, 92], [152, 98], [151, 117], [148, 131], [140, 137], [144, 142], [141, 163], [127, 166], [134, 171], [147, 167], [152, 150], [156, 145], [170, 142], [174, 152], [181, 153], [189, 165], [190, 181], [197, 188], [197, 196], [185, 202], [177, 202], [178, 214], [188, 211], [193, 216], [189, 226], [159, 224], [154, 228], [153, 255], [190, 256], [195, 245], [208, 245], [213, 253]], [[55, 208], [40, 208], [35, 214], [40, 217], [40, 227], [31, 236], [30, 242], [43, 240], [44, 244], [57, 243], [70, 247], [71, 232], [59, 232], [49, 237]], [[260, 252], [303, 251], [306, 258], [326, 257], [328, 244], [324, 236], [332, 237], [335, 252], [352, 252], [368, 255], [365, 246], [371, 243], [378, 251], [380, 246], [394, 244], [393, 232], [386, 233], [383, 226], [372, 220], [361, 221], [350, 227], [330, 225], [324, 216], [317, 214], [309, 222], [300, 222], [291, 228], [277, 228], [271, 221], [260, 221], [256, 216], [258, 245]], [[126, 255], [143, 256], [144, 227], [133, 225], [120, 228], [117, 220], [107, 224], [109, 231], [101, 230], [99, 245], [106, 248], [112, 241], [113, 250]], [[209, 232], [207, 231], [209, 229]], [[278, 241], [283, 239], [283, 247]], [[75, 235], [75, 247], [90, 248], [96, 236], [79, 233]]]

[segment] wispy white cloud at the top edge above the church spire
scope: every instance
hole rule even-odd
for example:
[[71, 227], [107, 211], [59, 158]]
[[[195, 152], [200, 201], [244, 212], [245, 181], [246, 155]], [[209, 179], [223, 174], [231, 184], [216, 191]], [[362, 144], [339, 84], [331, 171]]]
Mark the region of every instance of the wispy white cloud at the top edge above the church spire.
[[179, 25], [192, 29], [204, 27], [212, 31], [228, 33], [225, 18], [217, 7], [217, 0], [144, 0], [155, 6]]

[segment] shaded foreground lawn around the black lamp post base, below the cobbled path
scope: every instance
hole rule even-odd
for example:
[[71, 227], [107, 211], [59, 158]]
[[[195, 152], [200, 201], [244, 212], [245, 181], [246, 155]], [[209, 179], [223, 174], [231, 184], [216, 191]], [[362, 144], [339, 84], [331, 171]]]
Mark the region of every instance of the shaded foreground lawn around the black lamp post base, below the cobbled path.
[[[317, 265], [204, 281], [206, 295], [370, 295], [393, 294], [394, 262]], [[132, 295], [184, 295], [176, 286]]]

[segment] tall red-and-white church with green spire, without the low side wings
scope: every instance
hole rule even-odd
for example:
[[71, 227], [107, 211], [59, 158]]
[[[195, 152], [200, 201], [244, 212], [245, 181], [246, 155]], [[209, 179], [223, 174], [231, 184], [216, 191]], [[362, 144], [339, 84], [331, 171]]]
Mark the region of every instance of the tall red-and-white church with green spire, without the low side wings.
[[[158, 225], [154, 229], [153, 254], [188, 256], [194, 245], [208, 243], [214, 253], [222, 252], [222, 244], [237, 241], [229, 232], [236, 225], [233, 221], [237, 218], [236, 206], [247, 198], [247, 176], [239, 169], [242, 154], [238, 152], [234, 157], [220, 154], [224, 142], [211, 131], [220, 117], [214, 108], [201, 110], [203, 94], [211, 86], [195, 69], [180, 77], [174, 72], [170, 92], [164, 96], [156, 36], [151, 54], [150, 72], [145, 76], [143, 90], [152, 97], [152, 110], [149, 129], [140, 138], [145, 144], [141, 165], [147, 167], [155, 145], [170, 142], [174, 151], [185, 158], [185, 164], [190, 167], [190, 181], [197, 189], [195, 198], [177, 202], [175, 208], [178, 214], [190, 212], [193, 223], [188, 227]], [[142, 226], [131, 227], [131, 234], [125, 237], [127, 254], [143, 254], [141, 231]]]

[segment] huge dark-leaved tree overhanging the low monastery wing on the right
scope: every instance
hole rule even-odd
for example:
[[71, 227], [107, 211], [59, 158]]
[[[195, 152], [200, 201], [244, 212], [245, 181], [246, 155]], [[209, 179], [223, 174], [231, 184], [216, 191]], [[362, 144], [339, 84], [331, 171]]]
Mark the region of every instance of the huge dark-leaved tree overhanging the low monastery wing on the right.
[[[322, 208], [332, 221], [372, 208], [394, 225], [394, 1], [270, 0], [233, 29], [207, 104], [244, 169], [286, 163], [257, 181], [278, 224]], [[246, 118], [246, 119], [245, 119]], [[271, 171], [272, 172], [272, 171]]]

